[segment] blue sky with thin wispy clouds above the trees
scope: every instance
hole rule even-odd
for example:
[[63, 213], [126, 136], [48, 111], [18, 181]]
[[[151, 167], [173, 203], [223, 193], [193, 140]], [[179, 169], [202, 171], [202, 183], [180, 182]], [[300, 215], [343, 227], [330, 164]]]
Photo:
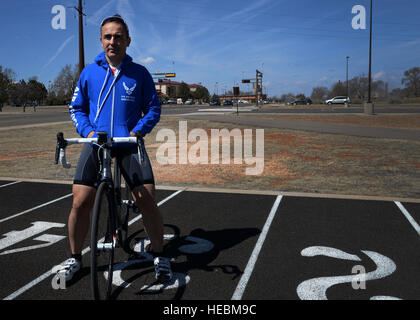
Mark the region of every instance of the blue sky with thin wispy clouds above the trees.
[[[374, 0], [374, 79], [400, 87], [403, 72], [420, 66], [420, 1]], [[78, 20], [66, 9], [55, 30], [54, 5], [77, 0], [1, 1], [0, 65], [19, 79], [37, 76], [48, 86], [65, 64], [78, 61]], [[352, 28], [352, 8], [366, 8], [367, 28]], [[85, 62], [101, 51], [99, 25], [119, 13], [127, 21], [128, 49], [151, 73], [202, 83], [219, 94], [263, 72], [269, 96], [310, 95], [346, 77], [368, 73], [369, 0], [84, 0]]]

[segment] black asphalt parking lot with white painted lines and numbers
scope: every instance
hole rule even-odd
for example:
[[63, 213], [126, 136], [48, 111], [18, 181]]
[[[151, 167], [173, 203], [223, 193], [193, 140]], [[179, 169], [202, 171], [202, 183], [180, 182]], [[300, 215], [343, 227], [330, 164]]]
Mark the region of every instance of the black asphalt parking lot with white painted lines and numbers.
[[[0, 295], [91, 299], [89, 247], [65, 289], [51, 269], [69, 254], [71, 185], [0, 182]], [[147, 257], [117, 251], [117, 300], [420, 298], [420, 203], [158, 190], [175, 279], [154, 283]], [[145, 238], [140, 220], [134, 241]]]

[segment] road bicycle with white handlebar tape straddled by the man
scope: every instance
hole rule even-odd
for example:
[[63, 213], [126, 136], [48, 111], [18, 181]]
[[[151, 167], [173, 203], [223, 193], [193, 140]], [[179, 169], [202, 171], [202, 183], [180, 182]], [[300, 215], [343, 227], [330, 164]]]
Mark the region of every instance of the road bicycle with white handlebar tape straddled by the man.
[[[72, 144], [91, 143], [98, 147], [100, 169], [100, 183], [95, 195], [95, 202], [91, 223], [91, 287], [95, 300], [111, 297], [112, 276], [114, 268], [114, 250], [121, 247], [129, 254], [133, 253], [128, 241], [128, 218], [131, 211], [138, 213], [135, 202], [132, 200], [129, 187], [126, 185], [122, 191], [121, 171], [118, 161], [114, 162], [112, 174], [111, 147], [120, 143], [136, 143], [138, 146], [140, 164], [145, 163], [144, 140], [141, 132], [135, 137], [108, 138], [106, 132], [97, 132], [98, 138], [64, 139], [62, 132], [57, 133], [57, 146], [55, 164], [70, 168], [66, 160], [66, 147]], [[105, 277], [99, 277], [105, 267]]]

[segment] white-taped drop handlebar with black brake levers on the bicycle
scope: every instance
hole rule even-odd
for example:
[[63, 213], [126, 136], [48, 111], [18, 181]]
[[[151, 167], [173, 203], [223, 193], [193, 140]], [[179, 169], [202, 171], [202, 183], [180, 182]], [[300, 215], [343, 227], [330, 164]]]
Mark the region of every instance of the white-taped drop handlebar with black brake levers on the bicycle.
[[135, 137], [114, 137], [108, 138], [108, 134], [106, 132], [97, 132], [98, 138], [71, 138], [71, 139], [64, 139], [64, 135], [62, 132], [57, 133], [57, 145], [55, 148], [55, 164], [60, 164], [68, 169], [71, 167], [70, 162], [66, 160], [66, 147], [72, 144], [80, 144], [80, 143], [94, 143], [98, 144], [102, 147], [111, 147], [113, 144], [120, 144], [120, 143], [136, 143], [138, 145], [139, 150], [139, 159], [140, 165], [144, 165], [145, 163], [145, 156], [144, 156], [144, 139], [141, 131], [136, 132]]

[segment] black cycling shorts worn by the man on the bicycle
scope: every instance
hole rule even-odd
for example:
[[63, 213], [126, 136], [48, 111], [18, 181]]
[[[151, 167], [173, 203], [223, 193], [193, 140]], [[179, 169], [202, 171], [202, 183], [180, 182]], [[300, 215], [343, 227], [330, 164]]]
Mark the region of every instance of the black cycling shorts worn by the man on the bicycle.
[[[140, 165], [138, 147], [119, 147], [111, 149], [111, 156], [118, 161], [121, 174], [131, 190], [145, 184], [155, 184], [149, 156], [143, 146], [145, 163]], [[97, 188], [100, 182], [98, 147], [90, 144], [83, 146], [74, 175], [74, 184], [82, 184]]]

